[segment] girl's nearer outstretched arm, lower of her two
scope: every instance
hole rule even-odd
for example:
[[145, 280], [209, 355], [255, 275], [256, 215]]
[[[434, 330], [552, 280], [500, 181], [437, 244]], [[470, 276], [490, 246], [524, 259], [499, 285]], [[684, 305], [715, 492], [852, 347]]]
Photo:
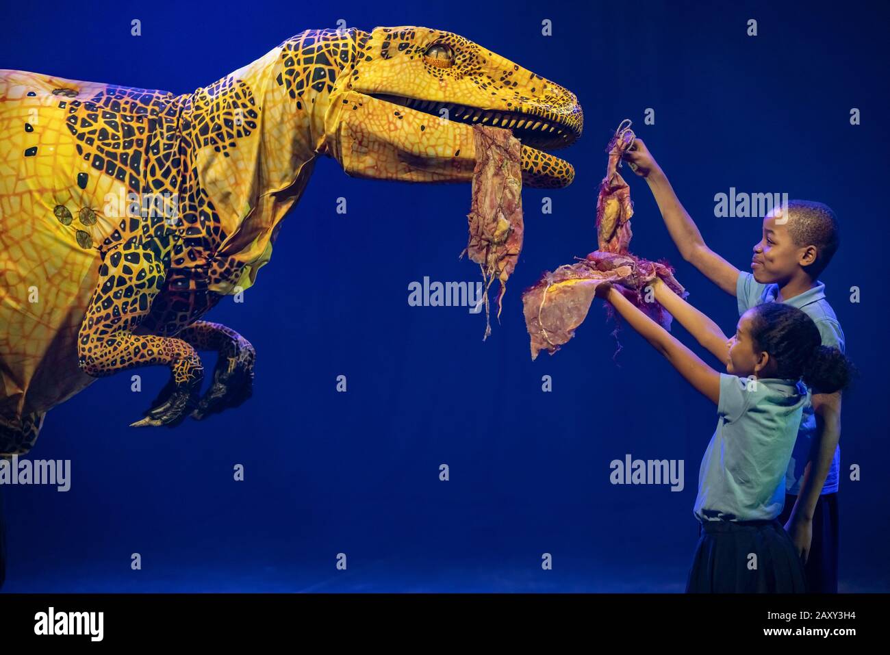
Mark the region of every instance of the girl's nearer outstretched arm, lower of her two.
[[716, 405], [720, 400], [720, 374], [677, 341], [676, 337], [668, 334], [664, 327], [637, 309], [616, 288], [611, 285], [601, 285], [601, 287], [608, 287], [608, 292], [604, 288], [602, 292], [597, 289], [597, 295], [605, 297], [631, 327], [665, 356], [681, 376]]

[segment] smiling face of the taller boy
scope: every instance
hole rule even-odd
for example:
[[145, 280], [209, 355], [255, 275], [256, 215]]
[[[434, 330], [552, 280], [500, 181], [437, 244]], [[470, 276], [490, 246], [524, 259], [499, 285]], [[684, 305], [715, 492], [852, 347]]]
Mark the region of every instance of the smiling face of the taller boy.
[[788, 224], [793, 220], [781, 206], [765, 215], [763, 235], [751, 258], [751, 272], [760, 284], [781, 284], [802, 265], [813, 263], [815, 247], [797, 246], [791, 238]]

